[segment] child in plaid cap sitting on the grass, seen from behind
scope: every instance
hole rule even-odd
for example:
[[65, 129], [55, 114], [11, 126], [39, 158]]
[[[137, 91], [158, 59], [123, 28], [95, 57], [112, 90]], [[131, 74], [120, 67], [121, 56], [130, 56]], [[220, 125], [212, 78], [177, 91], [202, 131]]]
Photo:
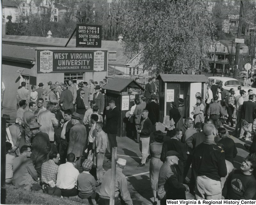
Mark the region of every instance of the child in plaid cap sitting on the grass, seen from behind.
[[92, 169], [92, 160], [86, 159], [83, 162], [83, 172], [77, 177], [78, 196], [81, 199], [95, 199], [98, 201], [99, 194], [96, 191], [95, 179], [89, 173]]

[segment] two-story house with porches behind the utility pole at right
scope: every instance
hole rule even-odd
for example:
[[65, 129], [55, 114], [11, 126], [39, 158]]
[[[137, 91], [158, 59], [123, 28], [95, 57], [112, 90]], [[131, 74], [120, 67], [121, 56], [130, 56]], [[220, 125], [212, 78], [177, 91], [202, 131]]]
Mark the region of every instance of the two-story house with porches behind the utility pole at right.
[[[236, 43], [233, 41], [220, 40], [211, 45], [207, 57], [210, 58], [210, 67], [213, 70], [215, 62], [215, 72], [228, 72], [230, 67], [234, 65], [234, 58], [236, 55]], [[249, 49], [244, 43], [240, 44], [240, 62], [239, 68], [243, 68], [246, 64], [245, 57], [248, 57]], [[214, 60], [215, 56], [215, 60]]]

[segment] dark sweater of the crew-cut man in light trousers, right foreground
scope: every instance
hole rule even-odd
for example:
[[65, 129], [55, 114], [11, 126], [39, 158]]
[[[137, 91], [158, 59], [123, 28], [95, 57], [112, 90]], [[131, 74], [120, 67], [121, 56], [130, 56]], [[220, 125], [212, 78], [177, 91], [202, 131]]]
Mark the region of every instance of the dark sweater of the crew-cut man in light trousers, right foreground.
[[192, 164], [195, 178], [206, 176], [220, 181], [221, 177], [227, 175], [225, 153], [216, 144], [208, 144], [204, 141], [198, 145], [194, 150]]

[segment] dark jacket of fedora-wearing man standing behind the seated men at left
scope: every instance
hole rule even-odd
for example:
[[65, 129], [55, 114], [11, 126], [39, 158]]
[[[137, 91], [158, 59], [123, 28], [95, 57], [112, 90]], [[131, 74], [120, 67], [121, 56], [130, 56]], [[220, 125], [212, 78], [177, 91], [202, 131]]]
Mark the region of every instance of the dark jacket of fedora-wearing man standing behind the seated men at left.
[[47, 154], [51, 151], [49, 136], [46, 133], [39, 131], [31, 142], [31, 157], [35, 169], [42, 166], [42, 163], [47, 161]]

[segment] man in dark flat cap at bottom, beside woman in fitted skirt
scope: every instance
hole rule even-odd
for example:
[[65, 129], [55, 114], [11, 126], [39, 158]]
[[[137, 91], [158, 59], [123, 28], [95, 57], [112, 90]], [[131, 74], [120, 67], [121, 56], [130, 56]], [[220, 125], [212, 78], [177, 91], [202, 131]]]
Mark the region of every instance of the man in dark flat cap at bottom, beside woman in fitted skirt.
[[158, 177], [157, 195], [160, 204], [166, 204], [167, 199], [186, 199], [189, 192], [188, 185], [180, 183], [175, 166], [178, 165], [180, 154], [176, 151], [168, 151], [166, 159], [161, 166]]

